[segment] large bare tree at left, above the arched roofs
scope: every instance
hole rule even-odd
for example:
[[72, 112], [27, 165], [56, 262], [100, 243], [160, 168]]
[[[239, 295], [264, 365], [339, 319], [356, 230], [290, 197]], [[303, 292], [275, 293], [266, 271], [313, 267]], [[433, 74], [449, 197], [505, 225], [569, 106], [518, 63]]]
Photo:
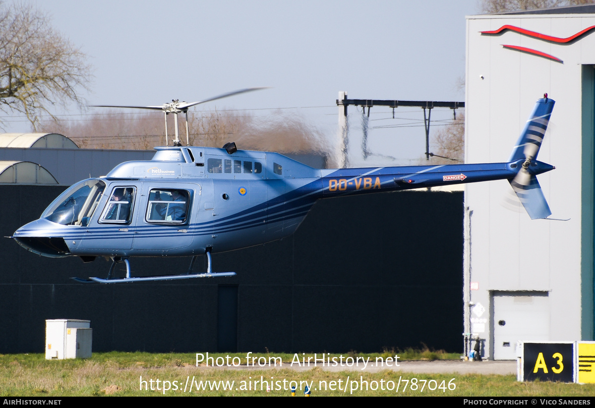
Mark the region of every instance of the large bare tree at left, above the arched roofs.
[[0, 109], [27, 116], [35, 130], [49, 107], [83, 100], [90, 65], [86, 55], [49, 25], [31, 5], [0, 3]]

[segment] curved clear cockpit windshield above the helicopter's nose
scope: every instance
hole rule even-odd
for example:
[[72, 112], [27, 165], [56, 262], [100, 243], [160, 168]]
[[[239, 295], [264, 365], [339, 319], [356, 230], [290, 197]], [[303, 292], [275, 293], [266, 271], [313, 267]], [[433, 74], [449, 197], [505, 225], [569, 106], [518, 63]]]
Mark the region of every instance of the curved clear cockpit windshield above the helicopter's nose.
[[105, 183], [101, 180], [81, 181], [60, 194], [41, 216], [62, 225], [86, 227], [104, 190]]

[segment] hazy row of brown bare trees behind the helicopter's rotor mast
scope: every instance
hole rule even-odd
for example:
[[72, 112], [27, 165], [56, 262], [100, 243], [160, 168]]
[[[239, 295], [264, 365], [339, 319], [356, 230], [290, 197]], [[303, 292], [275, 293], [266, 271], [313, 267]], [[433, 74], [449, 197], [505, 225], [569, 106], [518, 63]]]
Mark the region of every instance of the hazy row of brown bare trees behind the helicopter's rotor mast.
[[[205, 110], [188, 115], [190, 145], [222, 147], [236, 142], [239, 149], [279, 153], [327, 153], [331, 143], [317, 127], [298, 115], [273, 112], [253, 117], [245, 112]], [[180, 118], [180, 139], [186, 144], [186, 124]], [[86, 114], [78, 120], [53, 118], [40, 121], [39, 130], [70, 137], [87, 149], [152, 149], [165, 145], [164, 118], [161, 112], [126, 113], [110, 109]], [[174, 122], [168, 117], [170, 144]]]

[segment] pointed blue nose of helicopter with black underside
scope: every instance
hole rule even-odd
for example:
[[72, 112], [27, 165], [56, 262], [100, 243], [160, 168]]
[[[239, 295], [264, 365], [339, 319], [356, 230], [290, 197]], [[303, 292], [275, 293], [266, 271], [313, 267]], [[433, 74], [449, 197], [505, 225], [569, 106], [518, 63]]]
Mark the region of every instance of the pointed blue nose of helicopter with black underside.
[[63, 232], [60, 228], [56, 228], [54, 222], [41, 218], [18, 228], [11, 238], [14, 238], [20, 246], [38, 255], [62, 258], [70, 255]]

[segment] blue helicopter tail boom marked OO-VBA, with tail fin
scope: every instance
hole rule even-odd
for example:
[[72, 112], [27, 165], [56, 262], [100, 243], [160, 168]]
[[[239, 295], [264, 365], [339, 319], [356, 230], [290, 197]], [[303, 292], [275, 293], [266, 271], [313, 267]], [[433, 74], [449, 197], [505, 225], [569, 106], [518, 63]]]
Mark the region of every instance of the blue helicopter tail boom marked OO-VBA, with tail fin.
[[312, 193], [322, 198], [508, 180], [532, 219], [547, 218], [552, 212], [536, 176], [555, 167], [537, 161], [537, 155], [555, 101], [547, 98], [547, 94], [544, 96], [534, 106], [508, 162], [328, 170], [317, 181], [317, 188]]

